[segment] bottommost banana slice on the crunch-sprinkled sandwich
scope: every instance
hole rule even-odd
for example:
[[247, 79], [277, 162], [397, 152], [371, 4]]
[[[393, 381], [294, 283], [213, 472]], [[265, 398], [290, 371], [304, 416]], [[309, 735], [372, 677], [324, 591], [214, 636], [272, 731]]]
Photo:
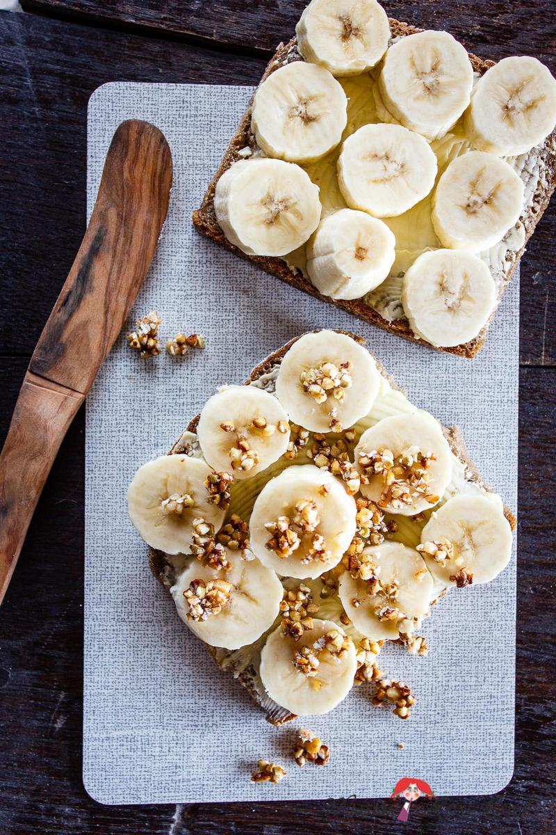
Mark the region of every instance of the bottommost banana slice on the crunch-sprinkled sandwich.
[[[330, 640], [332, 644], [328, 644]], [[338, 654], [334, 645], [342, 641], [345, 645]], [[303, 660], [303, 655], [308, 656], [311, 675], [301, 671], [303, 665], [296, 664], [296, 659]], [[296, 716], [331, 711], [352, 689], [356, 671], [353, 640], [333, 620], [313, 619], [313, 629], [303, 632], [298, 640], [284, 635], [278, 626], [261, 652], [264, 689], [278, 705]]]

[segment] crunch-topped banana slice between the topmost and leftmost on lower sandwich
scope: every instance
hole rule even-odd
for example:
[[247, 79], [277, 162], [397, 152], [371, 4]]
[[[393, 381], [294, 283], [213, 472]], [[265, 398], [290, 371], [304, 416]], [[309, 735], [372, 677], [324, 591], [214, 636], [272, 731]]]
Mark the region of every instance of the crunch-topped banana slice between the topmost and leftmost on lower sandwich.
[[230, 386], [203, 406], [197, 436], [215, 470], [251, 478], [286, 452], [288, 415], [262, 388]]

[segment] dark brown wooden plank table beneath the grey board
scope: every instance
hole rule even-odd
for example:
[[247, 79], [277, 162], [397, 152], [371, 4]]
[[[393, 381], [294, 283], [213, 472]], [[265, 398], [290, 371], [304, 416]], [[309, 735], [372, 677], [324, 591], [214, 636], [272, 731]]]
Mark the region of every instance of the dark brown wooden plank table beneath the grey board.
[[[107, 81], [254, 83], [303, 0], [22, 0], [0, 12], [0, 443], [85, 223], [87, 101]], [[446, 28], [486, 58], [556, 70], [552, 0], [423, 0], [388, 13]], [[415, 16], [418, 15], [418, 18]], [[492, 797], [419, 804], [428, 835], [554, 832], [556, 211], [521, 271], [515, 773]], [[387, 800], [101, 807], [83, 789], [83, 412], [38, 505], [0, 610], [2, 835], [382, 835]], [[270, 792], [268, 792], [270, 794]], [[401, 827], [400, 827], [401, 828]]]

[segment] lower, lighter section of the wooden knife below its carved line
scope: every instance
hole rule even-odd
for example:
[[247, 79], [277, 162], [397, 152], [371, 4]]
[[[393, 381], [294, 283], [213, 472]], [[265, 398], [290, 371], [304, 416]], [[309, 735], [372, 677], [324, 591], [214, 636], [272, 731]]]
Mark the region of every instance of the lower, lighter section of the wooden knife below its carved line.
[[0, 454], [0, 603], [38, 498], [85, 396], [27, 372]]

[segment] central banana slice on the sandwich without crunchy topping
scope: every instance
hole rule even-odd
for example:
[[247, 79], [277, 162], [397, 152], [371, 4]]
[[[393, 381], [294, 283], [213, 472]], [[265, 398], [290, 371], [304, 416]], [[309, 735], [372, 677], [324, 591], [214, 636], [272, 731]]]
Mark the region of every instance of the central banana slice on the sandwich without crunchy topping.
[[403, 215], [433, 188], [436, 156], [419, 134], [399, 124], [365, 124], [338, 157], [338, 185], [352, 209], [374, 217]]

